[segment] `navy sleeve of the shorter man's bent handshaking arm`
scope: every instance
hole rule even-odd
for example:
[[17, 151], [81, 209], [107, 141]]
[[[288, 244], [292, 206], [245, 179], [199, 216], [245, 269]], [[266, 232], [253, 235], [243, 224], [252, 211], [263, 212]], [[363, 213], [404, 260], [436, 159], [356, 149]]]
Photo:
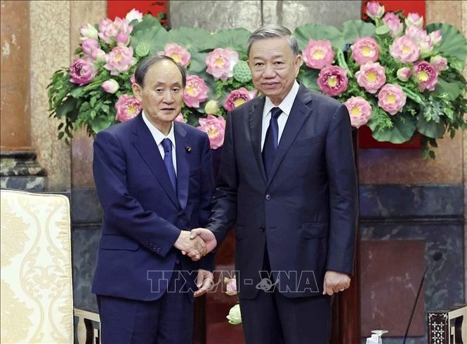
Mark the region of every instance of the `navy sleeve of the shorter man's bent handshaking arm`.
[[130, 237], [159, 256], [165, 257], [180, 230], [154, 211], [147, 211], [131, 197], [126, 182], [124, 151], [109, 131], [94, 140], [93, 173], [105, 221], [122, 235]]

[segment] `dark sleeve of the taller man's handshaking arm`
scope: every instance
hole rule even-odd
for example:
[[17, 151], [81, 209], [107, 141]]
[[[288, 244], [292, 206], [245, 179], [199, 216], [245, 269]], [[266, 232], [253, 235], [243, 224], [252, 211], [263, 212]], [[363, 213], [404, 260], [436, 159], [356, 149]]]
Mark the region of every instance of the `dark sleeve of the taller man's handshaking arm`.
[[233, 136], [232, 114], [229, 112], [225, 126], [221, 166], [213, 197], [213, 211], [208, 226], [216, 236], [218, 246], [221, 245], [237, 219], [238, 172]]

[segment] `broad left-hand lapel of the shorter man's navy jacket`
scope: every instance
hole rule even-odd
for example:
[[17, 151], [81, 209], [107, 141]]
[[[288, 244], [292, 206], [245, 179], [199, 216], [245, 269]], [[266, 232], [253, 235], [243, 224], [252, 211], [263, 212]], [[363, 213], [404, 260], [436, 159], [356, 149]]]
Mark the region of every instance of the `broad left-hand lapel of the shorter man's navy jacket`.
[[[143, 121], [143, 114], [138, 115], [135, 127], [133, 130], [133, 137], [131, 143], [136, 148], [140, 157], [145, 161], [147, 167], [154, 174], [161, 187], [166, 192], [167, 196], [171, 199], [173, 204], [180, 208], [178, 204], [177, 195], [170, 182], [169, 173], [167, 172], [164, 160], [159, 153], [159, 148], [154, 142], [154, 138]], [[178, 157], [177, 157], [178, 160]]]

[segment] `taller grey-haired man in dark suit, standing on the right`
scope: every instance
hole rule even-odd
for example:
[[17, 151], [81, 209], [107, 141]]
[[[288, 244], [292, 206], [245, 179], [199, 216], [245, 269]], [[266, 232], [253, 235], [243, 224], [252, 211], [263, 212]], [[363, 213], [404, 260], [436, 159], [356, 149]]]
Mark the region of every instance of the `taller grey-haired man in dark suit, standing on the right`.
[[330, 296], [350, 285], [355, 250], [349, 114], [297, 83], [289, 29], [262, 27], [247, 50], [263, 95], [228, 115], [208, 227], [220, 244], [236, 225], [246, 343], [327, 343]]

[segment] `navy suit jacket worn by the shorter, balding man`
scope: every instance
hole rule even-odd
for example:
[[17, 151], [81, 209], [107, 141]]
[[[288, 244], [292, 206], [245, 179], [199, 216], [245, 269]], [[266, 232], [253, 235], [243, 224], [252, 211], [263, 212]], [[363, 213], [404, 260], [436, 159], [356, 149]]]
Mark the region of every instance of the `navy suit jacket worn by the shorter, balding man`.
[[212, 256], [195, 263], [173, 247], [180, 230], [206, 225], [213, 192], [207, 135], [173, 125], [178, 195], [142, 114], [96, 136], [93, 172], [104, 218], [93, 293], [156, 300], [176, 260], [183, 270], [213, 270]]

